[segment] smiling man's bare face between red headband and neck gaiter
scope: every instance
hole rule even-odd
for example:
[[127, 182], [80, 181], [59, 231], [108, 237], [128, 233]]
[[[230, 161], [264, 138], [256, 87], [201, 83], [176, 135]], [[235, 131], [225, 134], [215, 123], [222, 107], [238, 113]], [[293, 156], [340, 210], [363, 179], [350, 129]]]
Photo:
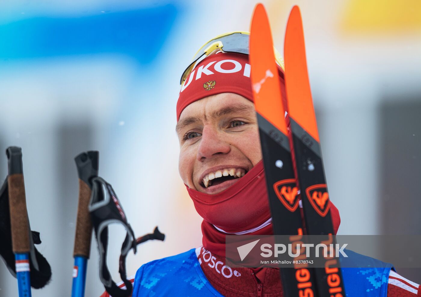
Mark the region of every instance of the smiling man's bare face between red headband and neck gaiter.
[[202, 193], [222, 192], [262, 159], [254, 104], [237, 94], [189, 104], [176, 131], [181, 179]]

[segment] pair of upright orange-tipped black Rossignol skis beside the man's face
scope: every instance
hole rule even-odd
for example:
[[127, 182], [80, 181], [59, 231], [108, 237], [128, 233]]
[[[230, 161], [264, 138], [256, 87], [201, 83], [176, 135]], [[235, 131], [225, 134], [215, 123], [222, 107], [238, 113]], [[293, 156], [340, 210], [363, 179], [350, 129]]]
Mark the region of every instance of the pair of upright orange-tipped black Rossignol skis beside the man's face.
[[[251, 81], [274, 234], [290, 235], [289, 243], [293, 246], [302, 243], [304, 233], [323, 235], [322, 243], [335, 244], [300, 10], [293, 7], [285, 34], [287, 100], [282, 98], [272, 34], [262, 4], [255, 8], [250, 31]], [[346, 296], [338, 258], [324, 259], [324, 266], [281, 268], [284, 295]]]

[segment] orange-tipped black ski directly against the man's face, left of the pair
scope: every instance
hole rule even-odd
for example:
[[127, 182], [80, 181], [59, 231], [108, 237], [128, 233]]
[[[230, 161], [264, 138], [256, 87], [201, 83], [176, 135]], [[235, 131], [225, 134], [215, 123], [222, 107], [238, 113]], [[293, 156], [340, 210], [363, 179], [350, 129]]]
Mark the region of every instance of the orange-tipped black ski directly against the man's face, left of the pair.
[[[261, 4], [254, 10], [250, 32], [251, 82], [274, 234], [289, 235], [288, 242], [277, 243], [302, 243], [298, 187], [291, 160], [279, 70], [269, 21]], [[280, 239], [275, 237], [275, 241]], [[315, 296], [314, 271], [308, 265], [281, 268], [280, 272], [284, 296]]]

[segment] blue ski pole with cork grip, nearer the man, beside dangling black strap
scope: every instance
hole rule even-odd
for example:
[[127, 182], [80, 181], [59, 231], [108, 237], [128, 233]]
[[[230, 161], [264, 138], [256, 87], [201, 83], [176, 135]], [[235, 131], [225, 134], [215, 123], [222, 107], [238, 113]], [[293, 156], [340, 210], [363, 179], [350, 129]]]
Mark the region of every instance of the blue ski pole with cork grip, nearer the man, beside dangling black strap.
[[98, 176], [98, 152], [88, 151], [76, 156], [79, 177], [79, 202], [77, 206], [75, 248], [73, 257], [72, 297], [85, 296], [86, 268], [91, 250], [92, 223], [88, 210], [91, 198], [91, 180]]

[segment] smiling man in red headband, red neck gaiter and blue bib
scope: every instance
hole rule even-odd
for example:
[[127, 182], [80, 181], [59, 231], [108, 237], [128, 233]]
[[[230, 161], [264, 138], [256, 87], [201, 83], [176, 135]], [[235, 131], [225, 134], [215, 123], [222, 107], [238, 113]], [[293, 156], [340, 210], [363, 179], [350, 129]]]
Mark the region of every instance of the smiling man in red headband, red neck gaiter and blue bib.
[[[234, 39], [222, 41], [230, 44], [244, 37], [221, 36], [231, 35]], [[279, 72], [285, 98], [284, 73]], [[284, 296], [278, 268], [225, 265], [226, 234], [273, 234], [248, 55], [211, 51], [183, 76], [176, 109], [179, 172], [203, 217], [203, 246], [142, 265], [133, 296]], [[333, 204], [331, 214], [336, 232], [340, 218]], [[420, 294], [418, 284], [397, 275], [391, 265], [370, 261], [381, 268], [345, 273], [348, 296]], [[379, 285], [367, 276], [379, 277]]]

